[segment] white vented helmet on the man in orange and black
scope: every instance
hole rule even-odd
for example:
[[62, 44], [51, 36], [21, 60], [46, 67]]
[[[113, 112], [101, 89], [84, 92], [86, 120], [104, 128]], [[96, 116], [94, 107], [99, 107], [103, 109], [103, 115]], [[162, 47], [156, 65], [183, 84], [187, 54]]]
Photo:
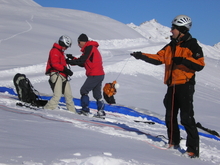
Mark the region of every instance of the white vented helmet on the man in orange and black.
[[192, 21], [191, 18], [186, 15], [178, 15], [173, 19], [172, 25], [184, 26], [189, 31], [192, 26]]

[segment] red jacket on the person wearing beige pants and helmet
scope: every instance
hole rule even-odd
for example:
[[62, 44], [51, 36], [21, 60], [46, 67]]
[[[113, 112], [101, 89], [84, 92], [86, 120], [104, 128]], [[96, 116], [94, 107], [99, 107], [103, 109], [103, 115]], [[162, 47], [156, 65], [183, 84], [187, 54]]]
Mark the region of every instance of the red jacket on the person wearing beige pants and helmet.
[[51, 72], [60, 72], [62, 76], [67, 77], [67, 75], [63, 73], [64, 67], [66, 66], [67, 64], [62, 46], [54, 43], [53, 48], [50, 50], [49, 53], [49, 58], [46, 66], [46, 74], [50, 74]]

